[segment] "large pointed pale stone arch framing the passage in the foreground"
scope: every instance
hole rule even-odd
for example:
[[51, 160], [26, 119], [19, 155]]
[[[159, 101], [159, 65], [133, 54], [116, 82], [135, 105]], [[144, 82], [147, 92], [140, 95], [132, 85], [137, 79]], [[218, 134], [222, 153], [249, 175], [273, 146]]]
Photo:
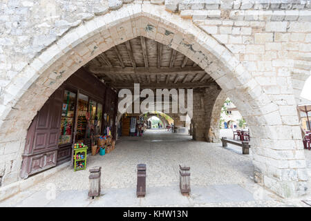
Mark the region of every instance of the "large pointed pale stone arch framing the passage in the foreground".
[[[12, 159], [6, 159], [14, 160], [12, 181], [18, 179], [27, 128], [53, 91], [101, 52], [140, 35], [187, 55], [230, 94], [252, 132], [256, 182], [285, 197], [305, 193], [300, 128], [281, 118], [290, 111], [280, 110], [232, 52], [192, 21], [167, 12], [164, 6], [140, 3], [122, 6], [66, 32], [6, 86], [1, 95], [0, 138], [6, 150], [15, 151]], [[296, 112], [289, 115], [297, 118]]]

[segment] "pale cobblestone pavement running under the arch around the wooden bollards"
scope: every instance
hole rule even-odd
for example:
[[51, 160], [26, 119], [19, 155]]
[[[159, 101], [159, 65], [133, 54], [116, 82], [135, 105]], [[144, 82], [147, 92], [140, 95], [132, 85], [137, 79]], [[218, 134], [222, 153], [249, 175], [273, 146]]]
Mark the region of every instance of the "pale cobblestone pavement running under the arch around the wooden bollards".
[[[311, 151], [305, 152], [311, 170]], [[140, 163], [147, 164], [147, 197], [142, 199], [135, 197]], [[189, 198], [178, 190], [179, 164], [191, 167]], [[242, 155], [238, 146], [223, 148], [164, 130], [121, 137], [111, 153], [88, 155], [91, 166], [102, 166], [100, 199], [87, 198], [88, 170], [74, 172], [68, 166], [0, 206], [308, 206], [301, 200], [311, 200], [310, 195], [284, 200], [255, 184], [251, 155]], [[56, 201], [46, 199], [48, 184], [55, 185]]]

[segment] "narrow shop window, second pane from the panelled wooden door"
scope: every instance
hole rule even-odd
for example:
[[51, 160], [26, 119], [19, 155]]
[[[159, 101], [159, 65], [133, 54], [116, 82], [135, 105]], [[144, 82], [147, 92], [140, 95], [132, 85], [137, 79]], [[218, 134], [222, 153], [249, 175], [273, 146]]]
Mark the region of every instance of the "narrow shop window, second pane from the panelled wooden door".
[[77, 104], [77, 137], [76, 140], [84, 140], [86, 124], [88, 121], [88, 96], [79, 94]]

